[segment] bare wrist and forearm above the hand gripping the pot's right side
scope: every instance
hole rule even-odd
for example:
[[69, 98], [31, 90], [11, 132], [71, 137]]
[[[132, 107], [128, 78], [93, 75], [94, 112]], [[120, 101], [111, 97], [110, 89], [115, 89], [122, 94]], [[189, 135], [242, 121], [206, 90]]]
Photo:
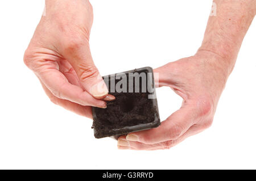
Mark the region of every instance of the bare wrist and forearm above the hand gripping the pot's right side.
[[229, 74], [236, 63], [243, 37], [256, 12], [254, 0], [214, 0], [216, 15], [210, 16], [198, 52], [216, 54]]

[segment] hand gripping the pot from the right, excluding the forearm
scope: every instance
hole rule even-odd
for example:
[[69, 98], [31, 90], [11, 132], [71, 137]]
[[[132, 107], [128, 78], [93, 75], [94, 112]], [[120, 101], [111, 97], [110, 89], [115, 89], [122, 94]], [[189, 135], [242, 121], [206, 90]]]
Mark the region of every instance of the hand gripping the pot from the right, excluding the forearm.
[[195, 56], [155, 69], [154, 73], [159, 73], [159, 87], [171, 87], [183, 98], [183, 104], [158, 128], [119, 137], [118, 148], [170, 149], [210, 127], [228, 78], [228, 69], [223, 62], [217, 54], [202, 50]]

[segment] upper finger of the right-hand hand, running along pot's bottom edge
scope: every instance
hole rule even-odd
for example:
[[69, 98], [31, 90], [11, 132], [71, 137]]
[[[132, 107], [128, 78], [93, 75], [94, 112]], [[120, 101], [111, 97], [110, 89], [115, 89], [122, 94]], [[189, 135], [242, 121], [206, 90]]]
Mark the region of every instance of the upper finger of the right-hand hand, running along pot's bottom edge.
[[130, 133], [126, 136], [126, 140], [138, 141], [144, 144], [176, 140], [195, 124], [197, 119], [195, 115], [193, 106], [181, 107], [180, 110], [163, 121], [158, 128]]

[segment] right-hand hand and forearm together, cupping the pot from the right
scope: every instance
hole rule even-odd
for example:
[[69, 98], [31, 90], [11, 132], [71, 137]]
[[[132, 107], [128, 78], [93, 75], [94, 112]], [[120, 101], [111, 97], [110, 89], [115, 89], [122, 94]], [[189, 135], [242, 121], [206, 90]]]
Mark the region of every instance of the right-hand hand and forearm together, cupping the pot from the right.
[[169, 149], [212, 124], [218, 99], [256, 14], [256, 1], [214, 0], [212, 11], [195, 56], [154, 70], [159, 73], [159, 86], [171, 87], [183, 98], [180, 110], [158, 128], [120, 137], [119, 149]]

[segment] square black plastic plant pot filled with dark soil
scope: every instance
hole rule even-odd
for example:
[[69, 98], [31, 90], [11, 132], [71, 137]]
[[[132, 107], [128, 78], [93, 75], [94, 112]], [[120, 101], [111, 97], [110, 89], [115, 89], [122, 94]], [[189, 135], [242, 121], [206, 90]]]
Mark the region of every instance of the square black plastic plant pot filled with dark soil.
[[154, 73], [146, 67], [103, 77], [115, 100], [93, 107], [94, 137], [118, 137], [160, 125]]

